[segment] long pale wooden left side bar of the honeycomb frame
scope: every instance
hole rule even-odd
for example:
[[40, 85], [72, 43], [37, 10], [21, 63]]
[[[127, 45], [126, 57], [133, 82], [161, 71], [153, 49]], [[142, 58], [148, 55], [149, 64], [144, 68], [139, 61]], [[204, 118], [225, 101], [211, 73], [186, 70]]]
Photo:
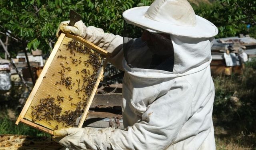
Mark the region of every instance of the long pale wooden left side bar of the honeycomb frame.
[[51, 64], [51, 62], [52, 62], [56, 52], [58, 51], [58, 49], [60, 47], [60, 44], [62, 43], [62, 40], [64, 39], [64, 37], [65, 37], [65, 34], [63, 34], [63, 33], [60, 34], [60, 36], [58, 38], [58, 41], [56, 42], [56, 44], [55, 44], [55, 46], [54, 46], [54, 48], [52, 50], [52, 53], [51, 53], [50, 57], [48, 58], [45, 66], [44, 66], [44, 70], [42, 70], [42, 72], [41, 72], [41, 74], [40, 74], [40, 76], [39, 76], [39, 78], [38, 78], [38, 80], [37, 80], [37, 82], [36, 82], [32, 92], [30, 93], [30, 95], [28, 97], [28, 100], [26, 101], [26, 104], [24, 105], [22, 111], [20, 112], [20, 116], [18, 117], [18, 119], [17, 119], [15, 124], [18, 124], [20, 122], [20, 120], [24, 118], [24, 116], [25, 116], [25, 114], [26, 114], [26, 112], [27, 112], [27, 110], [28, 110], [28, 108], [29, 108], [29, 106], [30, 106], [30, 104], [31, 104], [35, 94], [36, 94], [36, 91], [38, 90], [38, 88], [39, 88], [39, 86], [40, 86], [40, 84], [41, 84], [41, 82], [43, 80], [43, 77], [45, 76], [48, 68], [50, 67], [50, 64]]

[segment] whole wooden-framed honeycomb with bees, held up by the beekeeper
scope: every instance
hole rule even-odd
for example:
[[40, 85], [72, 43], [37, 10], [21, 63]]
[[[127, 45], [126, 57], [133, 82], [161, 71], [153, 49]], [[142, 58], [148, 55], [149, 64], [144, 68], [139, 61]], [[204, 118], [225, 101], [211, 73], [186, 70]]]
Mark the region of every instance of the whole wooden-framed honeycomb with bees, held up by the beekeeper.
[[71, 34], [61, 34], [16, 124], [52, 134], [81, 128], [97, 90], [108, 52]]

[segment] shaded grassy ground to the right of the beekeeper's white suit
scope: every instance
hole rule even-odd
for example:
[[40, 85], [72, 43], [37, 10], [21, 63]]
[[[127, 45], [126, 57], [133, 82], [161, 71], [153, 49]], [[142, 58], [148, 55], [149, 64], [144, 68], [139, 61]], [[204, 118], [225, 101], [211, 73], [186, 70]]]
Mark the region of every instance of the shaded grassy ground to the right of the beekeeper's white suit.
[[256, 150], [256, 59], [246, 63], [243, 74], [214, 76], [213, 80], [217, 149]]

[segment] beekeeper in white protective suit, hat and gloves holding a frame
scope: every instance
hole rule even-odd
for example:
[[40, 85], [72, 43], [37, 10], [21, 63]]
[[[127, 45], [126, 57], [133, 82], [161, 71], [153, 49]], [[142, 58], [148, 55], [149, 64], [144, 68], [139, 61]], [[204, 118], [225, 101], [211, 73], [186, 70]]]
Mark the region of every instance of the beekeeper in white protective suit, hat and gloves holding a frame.
[[65, 128], [54, 131], [54, 140], [70, 149], [214, 150], [210, 48], [216, 26], [195, 15], [187, 0], [156, 0], [123, 17], [125, 25], [143, 30], [141, 38], [104, 33], [82, 21], [75, 27], [62, 22], [59, 29], [112, 53], [110, 62], [125, 71], [125, 130]]

